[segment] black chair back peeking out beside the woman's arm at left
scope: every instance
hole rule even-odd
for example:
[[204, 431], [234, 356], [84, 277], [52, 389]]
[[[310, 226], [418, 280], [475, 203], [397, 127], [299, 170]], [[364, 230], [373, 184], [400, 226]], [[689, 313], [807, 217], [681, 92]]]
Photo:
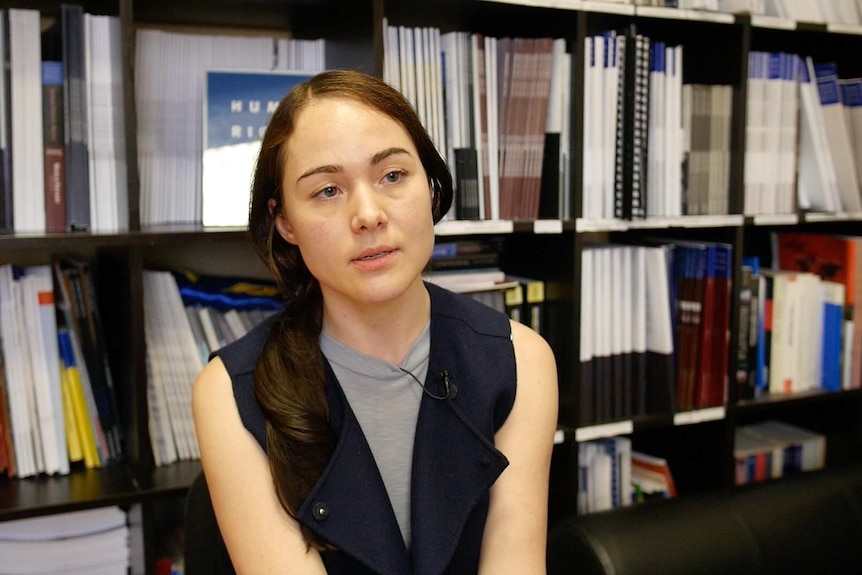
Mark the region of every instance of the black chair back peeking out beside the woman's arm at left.
[[192, 482], [186, 495], [185, 532], [186, 575], [235, 573], [216, 523], [203, 473]]

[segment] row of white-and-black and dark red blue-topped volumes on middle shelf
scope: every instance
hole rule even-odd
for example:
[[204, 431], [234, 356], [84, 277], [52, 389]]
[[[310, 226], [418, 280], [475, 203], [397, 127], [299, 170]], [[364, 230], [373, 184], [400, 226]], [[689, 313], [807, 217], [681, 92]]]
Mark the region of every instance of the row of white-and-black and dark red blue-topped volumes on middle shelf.
[[731, 247], [651, 244], [582, 252], [584, 425], [726, 403]]

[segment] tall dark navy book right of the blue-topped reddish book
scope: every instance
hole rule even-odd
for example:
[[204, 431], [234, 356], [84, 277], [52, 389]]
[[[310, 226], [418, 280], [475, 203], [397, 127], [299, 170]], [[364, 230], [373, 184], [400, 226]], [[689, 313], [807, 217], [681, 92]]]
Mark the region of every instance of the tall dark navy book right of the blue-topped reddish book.
[[71, 231], [89, 231], [90, 166], [83, 8], [74, 4], [63, 4], [60, 7], [60, 27], [65, 72], [63, 117], [66, 143], [66, 225]]

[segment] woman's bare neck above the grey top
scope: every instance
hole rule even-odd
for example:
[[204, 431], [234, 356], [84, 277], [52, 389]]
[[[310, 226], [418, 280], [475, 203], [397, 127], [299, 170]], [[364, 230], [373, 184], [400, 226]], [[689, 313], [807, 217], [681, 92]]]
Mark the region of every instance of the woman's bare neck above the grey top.
[[350, 305], [324, 297], [323, 329], [347, 347], [400, 364], [431, 317], [431, 298], [421, 281], [400, 297]]

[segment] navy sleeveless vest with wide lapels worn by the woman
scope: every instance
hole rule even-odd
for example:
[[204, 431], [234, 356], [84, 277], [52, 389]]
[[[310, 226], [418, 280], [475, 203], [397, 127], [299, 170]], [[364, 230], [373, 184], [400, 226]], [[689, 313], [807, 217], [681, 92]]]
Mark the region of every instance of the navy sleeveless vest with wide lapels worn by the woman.
[[[431, 354], [411, 484], [408, 551], [386, 489], [356, 417], [331, 367], [326, 367], [330, 424], [338, 437], [326, 469], [302, 504], [299, 521], [337, 551], [321, 553], [329, 575], [469, 574], [478, 569], [488, 489], [508, 465], [494, 433], [515, 400], [515, 356], [509, 319], [466, 296], [426, 284], [431, 295]], [[231, 376], [245, 427], [266, 449], [254, 368], [272, 322], [217, 352]], [[325, 361], [325, 360], [324, 360]]]

